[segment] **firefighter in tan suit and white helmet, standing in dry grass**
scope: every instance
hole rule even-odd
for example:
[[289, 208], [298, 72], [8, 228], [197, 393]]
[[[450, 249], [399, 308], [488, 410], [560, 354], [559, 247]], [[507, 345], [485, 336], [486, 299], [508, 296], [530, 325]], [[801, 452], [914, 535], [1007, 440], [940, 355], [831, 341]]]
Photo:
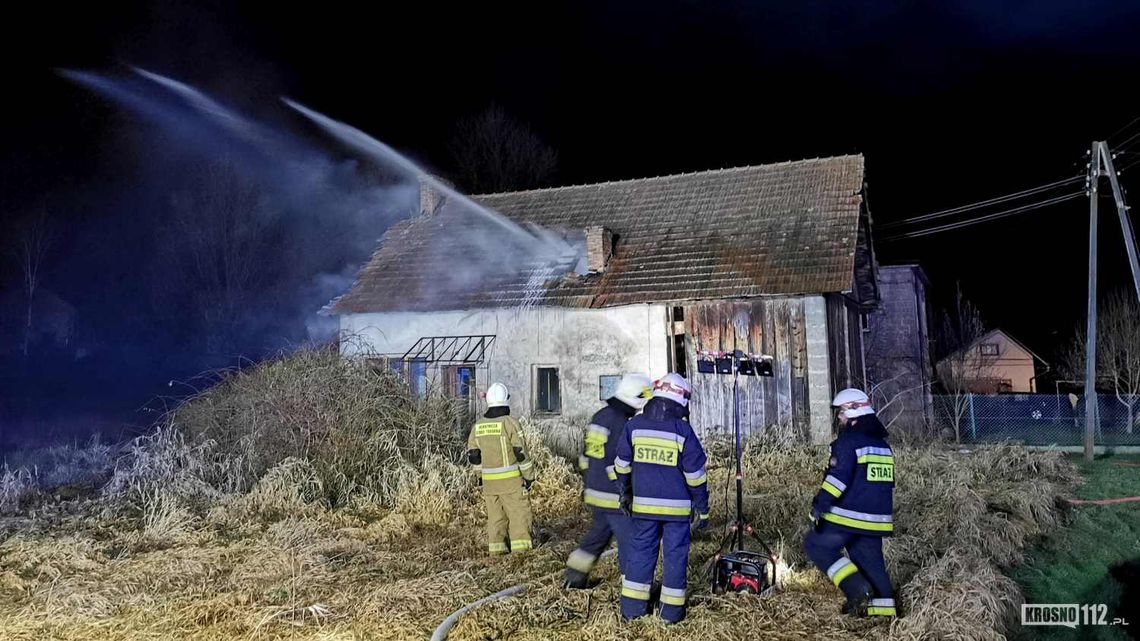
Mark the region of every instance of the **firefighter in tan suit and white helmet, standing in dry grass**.
[[519, 421], [511, 416], [510, 399], [503, 383], [487, 388], [487, 413], [471, 428], [467, 437], [467, 460], [475, 465], [483, 486], [487, 551], [491, 555], [531, 547], [527, 493], [535, 481], [534, 461], [522, 446]]

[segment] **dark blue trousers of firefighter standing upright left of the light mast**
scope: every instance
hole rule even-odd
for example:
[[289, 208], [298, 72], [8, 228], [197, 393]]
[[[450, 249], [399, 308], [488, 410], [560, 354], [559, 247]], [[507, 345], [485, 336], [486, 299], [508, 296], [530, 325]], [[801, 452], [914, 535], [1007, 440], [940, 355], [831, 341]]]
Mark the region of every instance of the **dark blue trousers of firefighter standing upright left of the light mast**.
[[661, 618], [679, 623], [685, 618], [685, 589], [689, 587], [689, 521], [629, 519], [625, 549], [626, 576], [621, 581], [621, 616], [626, 619], [649, 614], [657, 554], [661, 552]]

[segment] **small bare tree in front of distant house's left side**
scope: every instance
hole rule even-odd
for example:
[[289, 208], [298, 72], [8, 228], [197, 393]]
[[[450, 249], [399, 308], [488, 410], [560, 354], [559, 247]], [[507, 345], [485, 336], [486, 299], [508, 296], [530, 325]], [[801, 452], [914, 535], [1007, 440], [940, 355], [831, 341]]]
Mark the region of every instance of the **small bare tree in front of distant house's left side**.
[[974, 344], [986, 333], [982, 315], [959, 287], [953, 306], [943, 314], [937, 347], [938, 382], [950, 397], [954, 440], [962, 441], [962, 419], [970, 409], [972, 386], [985, 368], [985, 360]]

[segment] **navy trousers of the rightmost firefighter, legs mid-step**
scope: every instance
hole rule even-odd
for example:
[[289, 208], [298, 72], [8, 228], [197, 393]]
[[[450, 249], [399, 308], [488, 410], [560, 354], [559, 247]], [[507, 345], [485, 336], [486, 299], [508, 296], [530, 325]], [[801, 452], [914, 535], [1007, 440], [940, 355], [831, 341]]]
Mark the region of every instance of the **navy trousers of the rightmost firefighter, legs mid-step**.
[[895, 592], [887, 574], [887, 561], [882, 558], [881, 536], [864, 536], [820, 524], [804, 539], [804, 551], [848, 599], [870, 587], [872, 599], [868, 615], [895, 616]]

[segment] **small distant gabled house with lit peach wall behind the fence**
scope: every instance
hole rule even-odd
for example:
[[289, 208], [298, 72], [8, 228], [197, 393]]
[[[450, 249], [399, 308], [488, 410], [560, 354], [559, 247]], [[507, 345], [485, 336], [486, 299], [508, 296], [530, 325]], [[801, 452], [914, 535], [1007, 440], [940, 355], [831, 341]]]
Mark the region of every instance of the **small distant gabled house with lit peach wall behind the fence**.
[[1034, 393], [1037, 367], [1048, 364], [1029, 348], [1001, 330], [993, 330], [966, 349], [938, 362], [938, 372], [956, 363], [967, 373], [962, 391], [974, 393]]

